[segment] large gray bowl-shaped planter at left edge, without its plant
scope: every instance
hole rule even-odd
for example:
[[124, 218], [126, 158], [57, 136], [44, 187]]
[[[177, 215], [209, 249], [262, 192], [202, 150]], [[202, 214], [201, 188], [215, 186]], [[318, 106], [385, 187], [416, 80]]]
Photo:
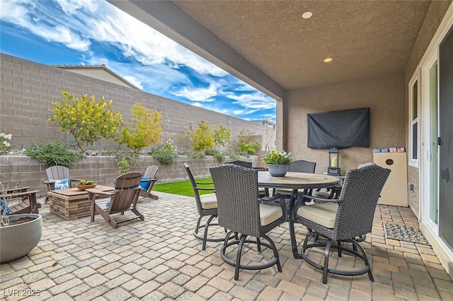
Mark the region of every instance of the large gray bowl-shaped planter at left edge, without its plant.
[[9, 220], [35, 218], [27, 223], [0, 227], [0, 262], [7, 262], [25, 256], [40, 242], [42, 217], [39, 214], [16, 214]]

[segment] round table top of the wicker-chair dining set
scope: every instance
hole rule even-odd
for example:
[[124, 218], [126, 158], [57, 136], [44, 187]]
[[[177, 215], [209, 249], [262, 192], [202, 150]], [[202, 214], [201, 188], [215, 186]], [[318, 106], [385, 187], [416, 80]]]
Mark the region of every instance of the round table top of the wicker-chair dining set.
[[305, 189], [333, 187], [341, 183], [338, 177], [305, 172], [287, 172], [285, 177], [273, 177], [269, 172], [258, 172], [258, 186]]

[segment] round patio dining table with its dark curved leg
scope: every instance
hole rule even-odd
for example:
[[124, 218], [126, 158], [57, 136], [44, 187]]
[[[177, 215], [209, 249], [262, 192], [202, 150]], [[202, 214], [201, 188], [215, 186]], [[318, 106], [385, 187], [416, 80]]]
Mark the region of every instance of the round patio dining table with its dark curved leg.
[[297, 252], [296, 234], [294, 231], [295, 205], [299, 189], [317, 189], [336, 187], [341, 183], [340, 178], [331, 175], [311, 174], [304, 172], [287, 172], [285, 177], [273, 177], [269, 172], [258, 172], [258, 187], [292, 189], [289, 201], [289, 236], [291, 237], [292, 254], [299, 259]]

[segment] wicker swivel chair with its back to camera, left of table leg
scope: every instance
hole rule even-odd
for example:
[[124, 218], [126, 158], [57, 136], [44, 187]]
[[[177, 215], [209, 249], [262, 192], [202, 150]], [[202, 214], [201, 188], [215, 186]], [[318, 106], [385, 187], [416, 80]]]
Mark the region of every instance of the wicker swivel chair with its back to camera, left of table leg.
[[[217, 194], [219, 225], [229, 229], [220, 249], [220, 256], [235, 267], [234, 280], [239, 278], [239, 269], [257, 270], [277, 266], [282, 271], [279, 254], [273, 240], [266, 235], [270, 230], [285, 221], [282, 206], [268, 206], [258, 201], [258, 171], [238, 165], [226, 164], [210, 167], [212, 181]], [[240, 238], [238, 235], [240, 234]], [[247, 237], [257, 240], [247, 240]], [[234, 240], [229, 241], [230, 238]], [[260, 242], [263, 237], [266, 242]], [[258, 252], [265, 246], [273, 250], [274, 258], [263, 264], [241, 264], [243, 244], [257, 244]], [[229, 259], [226, 249], [237, 244], [236, 261]]]

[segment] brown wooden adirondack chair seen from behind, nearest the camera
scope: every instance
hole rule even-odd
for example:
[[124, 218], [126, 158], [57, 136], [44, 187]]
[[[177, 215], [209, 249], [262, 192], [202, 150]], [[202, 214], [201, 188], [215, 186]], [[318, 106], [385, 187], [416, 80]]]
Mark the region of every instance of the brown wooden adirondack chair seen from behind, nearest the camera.
[[[142, 190], [140, 181], [142, 174], [139, 172], [127, 172], [115, 179], [115, 190], [99, 191], [97, 189], [86, 189], [88, 198], [91, 200], [91, 222], [94, 221], [94, 213], [98, 212], [113, 228], [117, 228], [119, 223], [139, 218], [144, 220], [144, 216], [136, 208], [139, 192]], [[97, 197], [105, 199], [96, 199]], [[121, 218], [114, 220], [112, 215], [115, 213], [125, 213], [132, 211], [135, 216], [131, 218]]]

